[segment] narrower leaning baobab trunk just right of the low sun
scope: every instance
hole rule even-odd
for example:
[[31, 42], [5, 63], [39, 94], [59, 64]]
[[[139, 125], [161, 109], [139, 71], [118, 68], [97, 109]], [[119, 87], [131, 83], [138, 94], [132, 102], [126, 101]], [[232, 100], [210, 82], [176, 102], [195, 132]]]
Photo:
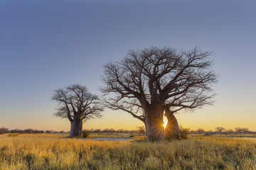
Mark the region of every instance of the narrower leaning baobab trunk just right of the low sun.
[[168, 109], [165, 110], [165, 115], [168, 120], [166, 128], [164, 130], [164, 136], [166, 140], [171, 140], [172, 138], [178, 140], [178, 121], [174, 116], [174, 113]]

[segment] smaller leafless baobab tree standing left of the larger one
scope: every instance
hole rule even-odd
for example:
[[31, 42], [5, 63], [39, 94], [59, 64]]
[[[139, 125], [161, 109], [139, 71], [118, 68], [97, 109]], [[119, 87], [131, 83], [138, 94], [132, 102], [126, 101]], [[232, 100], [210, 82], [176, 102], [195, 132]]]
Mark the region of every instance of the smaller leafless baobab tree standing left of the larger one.
[[70, 120], [70, 137], [82, 135], [82, 123], [90, 118], [100, 118], [103, 111], [98, 96], [92, 95], [85, 86], [73, 84], [57, 89], [52, 98], [59, 107], [55, 116]]

